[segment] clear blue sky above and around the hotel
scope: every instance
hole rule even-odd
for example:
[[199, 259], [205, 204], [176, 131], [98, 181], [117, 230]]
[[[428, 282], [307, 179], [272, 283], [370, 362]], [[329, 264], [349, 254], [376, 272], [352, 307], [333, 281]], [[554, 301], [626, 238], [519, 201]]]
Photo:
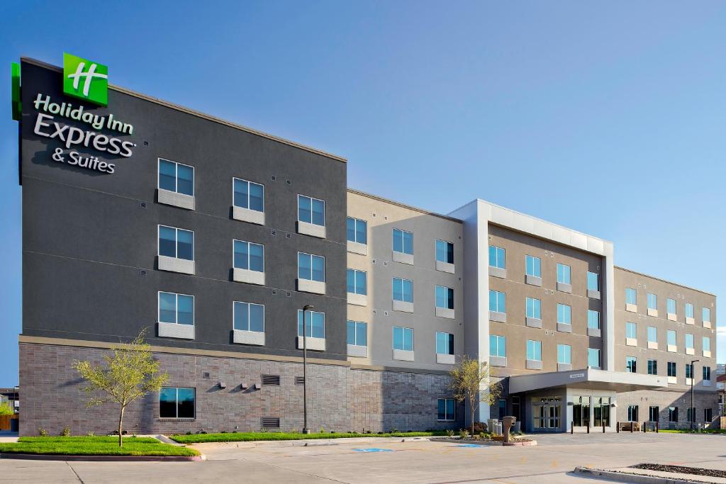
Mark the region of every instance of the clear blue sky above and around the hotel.
[[442, 213], [484, 198], [722, 296], [725, 33], [722, 1], [1, 2], [0, 386], [21, 326], [21, 55], [103, 62], [112, 83], [347, 157], [353, 188]]

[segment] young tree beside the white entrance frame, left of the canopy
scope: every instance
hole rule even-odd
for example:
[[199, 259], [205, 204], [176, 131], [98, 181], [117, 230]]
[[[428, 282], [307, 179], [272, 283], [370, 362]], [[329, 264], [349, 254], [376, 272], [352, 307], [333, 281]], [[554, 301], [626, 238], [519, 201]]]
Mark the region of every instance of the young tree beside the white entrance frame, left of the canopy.
[[471, 434], [474, 435], [474, 415], [479, 403], [484, 401], [492, 405], [502, 392], [502, 385], [492, 381], [486, 361], [479, 363], [477, 359], [466, 355], [449, 371], [449, 377], [452, 379], [449, 387], [454, 392], [454, 398], [469, 403]]

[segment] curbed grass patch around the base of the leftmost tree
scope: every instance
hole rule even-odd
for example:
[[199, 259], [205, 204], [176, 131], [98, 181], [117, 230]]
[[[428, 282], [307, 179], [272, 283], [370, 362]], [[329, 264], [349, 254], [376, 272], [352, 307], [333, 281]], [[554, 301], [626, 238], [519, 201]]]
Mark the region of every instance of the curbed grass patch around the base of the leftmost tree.
[[124, 437], [21, 437], [17, 443], [0, 443], [10, 454], [57, 454], [64, 456], [198, 456], [193, 448], [172, 446], [155, 438]]

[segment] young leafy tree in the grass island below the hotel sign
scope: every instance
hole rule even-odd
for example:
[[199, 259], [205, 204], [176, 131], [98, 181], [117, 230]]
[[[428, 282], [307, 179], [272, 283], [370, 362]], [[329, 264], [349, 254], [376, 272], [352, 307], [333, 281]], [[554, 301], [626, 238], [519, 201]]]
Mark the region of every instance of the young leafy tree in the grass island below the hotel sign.
[[[113, 355], [103, 357], [105, 367], [91, 361], [76, 361], [78, 370], [87, 385], [83, 391], [89, 395], [87, 406], [113, 402], [118, 405], [118, 446], [123, 446], [121, 432], [123, 411], [129, 403], [150, 392], [158, 392], [168, 380], [168, 374], [159, 372], [159, 362], [151, 353], [151, 346], [144, 343], [146, 329], [143, 329], [131, 343], [122, 343], [112, 348]], [[95, 396], [102, 393], [101, 397]]]

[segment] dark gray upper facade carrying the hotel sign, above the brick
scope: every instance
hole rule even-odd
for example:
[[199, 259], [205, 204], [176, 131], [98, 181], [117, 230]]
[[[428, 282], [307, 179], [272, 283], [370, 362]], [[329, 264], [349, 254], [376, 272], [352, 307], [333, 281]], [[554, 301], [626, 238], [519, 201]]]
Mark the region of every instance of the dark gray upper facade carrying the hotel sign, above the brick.
[[[23, 335], [117, 343], [148, 327], [152, 345], [300, 356], [296, 309], [311, 303], [326, 314], [315, 356], [346, 358], [344, 161], [113, 88], [91, 108], [36, 62], [22, 78]], [[133, 124], [133, 156], [105, 158], [113, 174], [52, 160], [60, 141], [33, 133], [38, 93]], [[195, 210], [156, 202], [159, 157], [195, 168]], [[265, 186], [264, 226], [232, 218], [233, 177]], [[325, 239], [296, 233], [298, 194], [325, 200]], [[158, 224], [195, 232], [195, 275], [156, 269]], [[264, 286], [232, 282], [233, 239], [265, 246]], [[325, 256], [326, 295], [295, 290], [298, 250]], [[194, 340], [156, 336], [158, 291], [195, 296]], [[235, 300], [266, 306], [264, 347], [232, 343]]]

